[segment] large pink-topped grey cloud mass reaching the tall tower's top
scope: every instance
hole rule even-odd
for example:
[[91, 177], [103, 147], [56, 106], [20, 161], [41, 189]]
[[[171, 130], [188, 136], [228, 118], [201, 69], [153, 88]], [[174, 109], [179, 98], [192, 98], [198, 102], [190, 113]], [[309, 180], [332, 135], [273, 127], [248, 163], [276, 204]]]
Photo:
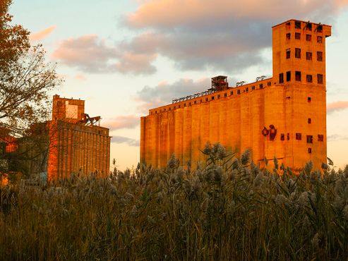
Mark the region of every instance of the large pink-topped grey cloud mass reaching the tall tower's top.
[[141, 32], [126, 43], [129, 52], [165, 56], [181, 70], [236, 73], [264, 63], [261, 52], [271, 47], [272, 25], [290, 18], [331, 23], [348, 1], [152, 0], [138, 4], [125, 18], [128, 28]]

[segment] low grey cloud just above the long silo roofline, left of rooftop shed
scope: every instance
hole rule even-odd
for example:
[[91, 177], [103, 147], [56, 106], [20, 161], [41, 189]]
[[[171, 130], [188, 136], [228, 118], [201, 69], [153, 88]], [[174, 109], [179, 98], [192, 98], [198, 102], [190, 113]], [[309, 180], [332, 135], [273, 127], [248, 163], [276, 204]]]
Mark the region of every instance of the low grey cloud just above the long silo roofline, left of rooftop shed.
[[[231, 85], [235, 79], [229, 79]], [[160, 107], [172, 103], [172, 99], [193, 95], [198, 92], [204, 92], [210, 88], [211, 79], [203, 78], [200, 80], [180, 79], [175, 83], [160, 83], [155, 87], [145, 86], [136, 93], [138, 110], [141, 113], [147, 113], [148, 109]]]

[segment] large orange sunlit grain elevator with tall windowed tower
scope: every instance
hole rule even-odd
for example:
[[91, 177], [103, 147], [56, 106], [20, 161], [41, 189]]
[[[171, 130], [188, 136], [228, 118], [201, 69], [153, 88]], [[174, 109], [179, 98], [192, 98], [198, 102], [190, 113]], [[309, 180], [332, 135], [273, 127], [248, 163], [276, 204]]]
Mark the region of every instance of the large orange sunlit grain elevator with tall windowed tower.
[[[205, 161], [220, 142], [253, 162], [278, 159], [294, 170], [326, 162], [325, 40], [330, 25], [298, 20], [272, 28], [273, 77], [150, 109], [140, 119], [140, 162], [164, 167]], [[272, 164], [269, 164], [272, 167]]]

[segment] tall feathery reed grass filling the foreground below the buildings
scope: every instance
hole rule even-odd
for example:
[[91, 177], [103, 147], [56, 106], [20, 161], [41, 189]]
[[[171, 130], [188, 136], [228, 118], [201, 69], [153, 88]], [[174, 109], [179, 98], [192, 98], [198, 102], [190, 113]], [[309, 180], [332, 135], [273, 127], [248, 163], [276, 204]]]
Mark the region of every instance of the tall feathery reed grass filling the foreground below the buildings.
[[[1, 189], [2, 260], [346, 260], [348, 167], [298, 176], [208, 145], [207, 166], [138, 166]], [[278, 175], [282, 172], [282, 176]]]

